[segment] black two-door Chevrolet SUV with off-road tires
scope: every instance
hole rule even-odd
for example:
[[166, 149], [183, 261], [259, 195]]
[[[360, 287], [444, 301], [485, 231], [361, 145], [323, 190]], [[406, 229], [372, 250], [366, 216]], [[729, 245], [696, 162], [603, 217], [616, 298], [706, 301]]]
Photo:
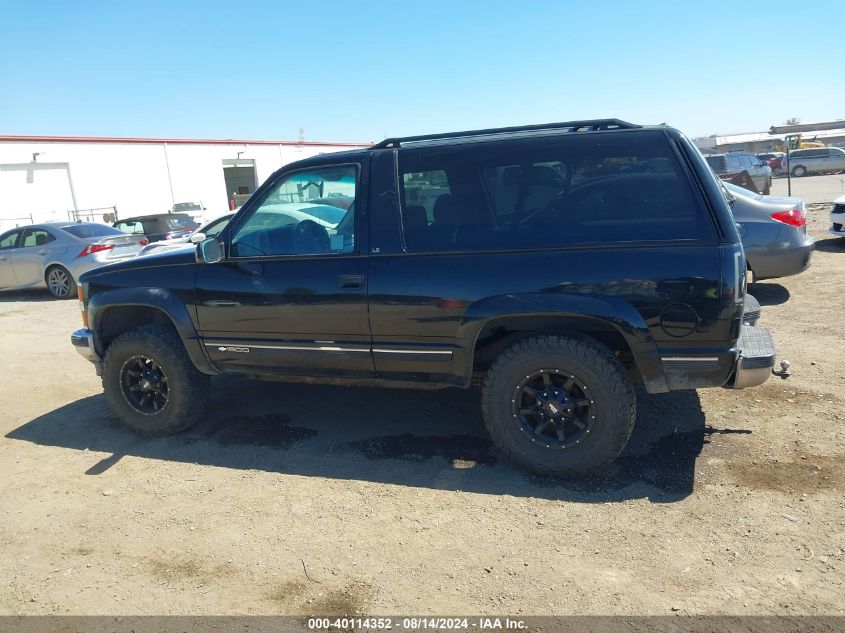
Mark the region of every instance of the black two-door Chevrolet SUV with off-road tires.
[[612, 119], [394, 138], [283, 167], [196, 252], [84, 275], [72, 342], [142, 434], [201, 419], [217, 374], [478, 377], [511, 460], [582, 474], [624, 447], [636, 383], [767, 379], [774, 345], [753, 327], [745, 270], [721, 188], [674, 129]]

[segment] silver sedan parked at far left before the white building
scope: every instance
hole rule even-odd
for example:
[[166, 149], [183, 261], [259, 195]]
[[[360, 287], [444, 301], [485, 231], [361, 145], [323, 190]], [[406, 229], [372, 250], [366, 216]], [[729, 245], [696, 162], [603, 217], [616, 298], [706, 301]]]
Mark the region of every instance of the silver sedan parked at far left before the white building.
[[98, 266], [135, 257], [149, 242], [93, 222], [45, 222], [0, 235], [0, 289], [47, 286], [76, 297], [76, 280]]

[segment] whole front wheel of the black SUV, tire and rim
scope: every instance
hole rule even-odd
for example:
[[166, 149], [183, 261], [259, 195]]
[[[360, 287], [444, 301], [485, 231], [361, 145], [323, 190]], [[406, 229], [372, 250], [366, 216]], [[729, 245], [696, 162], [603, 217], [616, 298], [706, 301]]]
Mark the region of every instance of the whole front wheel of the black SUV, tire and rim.
[[106, 350], [106, 401], [140, 435], [170, 435], [200, 420], [208, 408], [209, 383], [172, 330], [141, 326], [115, 338]]

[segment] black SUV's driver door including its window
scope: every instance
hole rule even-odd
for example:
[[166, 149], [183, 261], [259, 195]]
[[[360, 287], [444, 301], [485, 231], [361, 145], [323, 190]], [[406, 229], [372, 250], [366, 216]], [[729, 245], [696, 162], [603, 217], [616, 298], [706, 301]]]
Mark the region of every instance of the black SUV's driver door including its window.
[[277, 177], [221, 233], [227, 257], [200, 264], [199, 333], [223, 371], [375, 375], [360, 244], [364, 164]]

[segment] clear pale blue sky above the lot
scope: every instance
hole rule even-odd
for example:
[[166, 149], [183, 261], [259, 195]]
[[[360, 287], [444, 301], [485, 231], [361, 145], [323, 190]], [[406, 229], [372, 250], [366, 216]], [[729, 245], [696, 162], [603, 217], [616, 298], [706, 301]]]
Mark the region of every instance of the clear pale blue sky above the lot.
[[845, 118], [845, 2], [0, 0], [0, 134], [377, 140]]

